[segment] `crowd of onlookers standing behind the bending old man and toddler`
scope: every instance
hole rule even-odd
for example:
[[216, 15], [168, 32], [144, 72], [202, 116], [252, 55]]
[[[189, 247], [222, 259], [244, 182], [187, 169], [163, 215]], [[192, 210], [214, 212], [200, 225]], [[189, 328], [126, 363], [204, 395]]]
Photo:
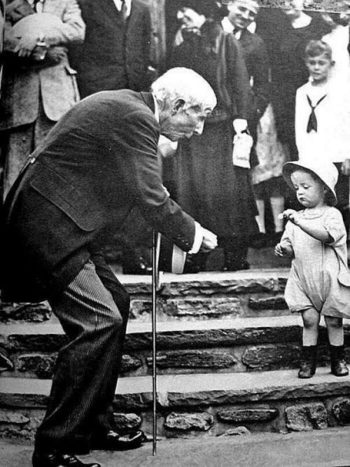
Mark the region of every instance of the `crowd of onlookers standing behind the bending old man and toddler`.
[[[111, 8], [109, 0], [7, 1], [0, 104], [3, 197], [27, 156], [80, 98], [109, 89], [146, 91], [156, 77], [148, 6], [139, 0], [113, 3]], [[329, 148], [336, 154], [331, 157], [340, 173], [338, 207], [348, 231], [350, 6], [347, 0], [341, 4], [343, 12], [326, 13], [304, 10], [303, 0], [272, 9], [256, 0], [178, 2], [167, 67], [198, 72], [211, 84], [218, 104], [200, 137], [178, 146], [163, 140], [160, 156], [173, 155], [163, 160], [163, 177], [174, 199], [217, 234], [223, 270], [248, 268], [248, 246], [274, 245], [280, 239], [284, 223], [279, 214], [295, 207], [282, 165], [302, 154], [330, 157]], [[306, 63], [311, 40], [329, 45], [319, 50], [332, 68], [323, 91], [314, 85]], [[318, 102], [320, 92], [327, 96]], [[341, 115], [336, 99], [343, 102]], [[310, 111], [319, 120], [318, 129], [307, 134], [323, 138], [318, 152], [307, 150], [302, 136]], [[252, 138], [250, 151], [244, 149], [246, 133]], [[233, 139], [240, 157], [232, 161]], [[315, 138], [309, 139], [311, 148]], [[242, 161], [244, 150], [249, 156]], [[149, 239], [150, 230], [135, 209], [122, 242], [125, 273], [150, 272]], [[186, 272], [205, 269], [205, 255], [187, 257]]]

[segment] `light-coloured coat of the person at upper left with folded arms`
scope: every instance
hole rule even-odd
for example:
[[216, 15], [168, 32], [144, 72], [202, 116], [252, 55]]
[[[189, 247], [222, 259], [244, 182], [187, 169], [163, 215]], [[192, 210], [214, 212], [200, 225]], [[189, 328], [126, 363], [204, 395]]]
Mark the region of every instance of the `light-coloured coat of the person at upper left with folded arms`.
[[[59, 19], [54, 22], [54, 27], [48, 27], [47, 15], [35, 13], [36, 18], [42, 20], [44, 40], [48, 45], [65, 46], [84, 39], [85, 25], [76, 0], [44, 0], [43, 13]], [[33, 16], [30, 15], [30, 19]], [[79, 100], [76, 71], [69, 66], [65, 48], [63, 52], [59, 63], [47, 67], [16, 68], [10, 60], [5, 63], [0, 129], [32, 123], [38, 114], [39, 97], [46, 116], [52, 121], [57, 121]]]

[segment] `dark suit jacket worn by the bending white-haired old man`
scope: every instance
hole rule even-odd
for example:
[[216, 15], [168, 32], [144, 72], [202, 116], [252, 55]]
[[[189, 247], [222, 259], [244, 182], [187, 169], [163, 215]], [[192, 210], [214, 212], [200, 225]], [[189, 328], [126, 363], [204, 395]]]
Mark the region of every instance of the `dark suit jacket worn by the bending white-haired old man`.
[[33, 152], [3, 212], [7, 299], [37, 301], [61, 291], [135, 206], [170, 241], [191, 248], [194, 221], [162, 185], [152, 107], [150, 93], [93, 94]]

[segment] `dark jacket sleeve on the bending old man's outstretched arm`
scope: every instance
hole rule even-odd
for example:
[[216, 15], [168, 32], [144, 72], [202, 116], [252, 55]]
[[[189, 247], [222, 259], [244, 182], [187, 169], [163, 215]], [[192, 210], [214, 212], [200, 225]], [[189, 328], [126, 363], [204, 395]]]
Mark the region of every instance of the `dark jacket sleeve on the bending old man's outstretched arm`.
[[153, 228], [189, 251], [195, 236], [194, 220], [170, 199], [162, 184], [157, 155], [159, 131], [154, 116], [136, 110], [123, 123], [124, 129], [109, 135], [109, 142], [111, 151], [122, 154], [120, 170], [125, 189]]

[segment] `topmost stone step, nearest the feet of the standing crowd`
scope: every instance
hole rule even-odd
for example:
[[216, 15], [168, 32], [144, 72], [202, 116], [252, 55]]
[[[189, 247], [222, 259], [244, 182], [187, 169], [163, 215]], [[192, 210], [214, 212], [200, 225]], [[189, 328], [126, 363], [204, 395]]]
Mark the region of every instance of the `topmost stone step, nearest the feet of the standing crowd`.
[[[288, 314], [283, 290], [288, 269], [162, 274], [157, 293], [159, 320], [227, 319]], [[151, 321], [150, 276], [119, 275], [131, 298], [130, 318]], [[0, 303], [2, 322], [39, 322], [50, 316], [47, 303]]]

